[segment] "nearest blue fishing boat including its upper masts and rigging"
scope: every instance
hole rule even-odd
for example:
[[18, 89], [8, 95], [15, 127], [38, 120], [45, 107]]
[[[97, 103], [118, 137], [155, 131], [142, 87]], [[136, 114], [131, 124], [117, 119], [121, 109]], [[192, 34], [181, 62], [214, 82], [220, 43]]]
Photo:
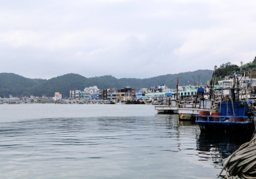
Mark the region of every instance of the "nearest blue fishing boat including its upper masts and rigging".
[[[237, 81], [236, 81], [237, 80]], [[209, 132], [253, 132], [255, 130], [255, 107], [252, 100], [241, 98], [243, 90], [236, 74], [232, 86], [215, 89], [221, 91], [218, 112], [202, 112], [196, 116], [201, 131]]]

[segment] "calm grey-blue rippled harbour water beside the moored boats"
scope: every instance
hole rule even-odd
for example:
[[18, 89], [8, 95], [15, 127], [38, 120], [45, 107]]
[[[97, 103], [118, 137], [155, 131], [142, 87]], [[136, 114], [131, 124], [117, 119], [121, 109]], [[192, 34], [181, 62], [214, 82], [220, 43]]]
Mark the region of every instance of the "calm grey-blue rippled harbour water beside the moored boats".
[[216, 178], [251, 136], [152, 105], [0, 105], [0, 178]]

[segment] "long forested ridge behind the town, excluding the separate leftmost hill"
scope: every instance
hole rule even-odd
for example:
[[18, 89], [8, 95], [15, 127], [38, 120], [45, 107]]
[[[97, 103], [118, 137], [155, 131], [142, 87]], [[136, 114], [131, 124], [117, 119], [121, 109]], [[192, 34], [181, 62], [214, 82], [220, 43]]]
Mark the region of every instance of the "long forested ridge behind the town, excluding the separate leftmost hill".
[[32, 88], [26, 89], [22, 95], [34, 95], [41, 97], [42, 95], [53, 96], [55, 92], [60, 92], [63, 95], [69, 95], [70, 89], [83, 90], [85, 87], [97, 86], [100, 89], [106, 88], [124, 88], [131, 86], [138, 90], [140, 88], [150, 88], [159, 84], [166, 83], [169, 88], [175, 88], [177, 77], [179, 77], [180, 85], [194, 84], [193, 77], [196, 82], [198, 75], [201, 74], [201, 81], [204, 83], [211, 79], [212, 70], [196, 70], [195, 72], [185, 72], [180, 74], [168, 74], [148, 79], [122, 78], [116, 79], [111, 75], [101, 77], [86, 78], [78, 74], [66, 74], [59, 77], [54, 77], [40, 84], [36, 84]]

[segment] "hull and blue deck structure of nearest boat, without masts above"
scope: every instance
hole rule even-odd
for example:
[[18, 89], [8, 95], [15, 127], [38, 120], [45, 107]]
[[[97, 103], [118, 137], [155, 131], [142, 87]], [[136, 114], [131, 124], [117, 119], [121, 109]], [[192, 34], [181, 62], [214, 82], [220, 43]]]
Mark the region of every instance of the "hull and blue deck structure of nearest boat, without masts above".
[[[202, 111], [204, 112], [204, 111]], [[247, 102], [219, 102], [218, 112], [199, 113], [196, 116], [201, 131], [209, 132], [252, 132], [254, 114]]]

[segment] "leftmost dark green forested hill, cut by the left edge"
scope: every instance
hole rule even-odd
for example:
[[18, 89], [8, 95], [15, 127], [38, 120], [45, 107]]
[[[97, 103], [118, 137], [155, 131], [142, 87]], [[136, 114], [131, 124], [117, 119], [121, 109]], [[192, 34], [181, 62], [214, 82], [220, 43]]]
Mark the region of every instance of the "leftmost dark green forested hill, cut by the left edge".
[[0, 94], [21, 96], [22, 93], [32, 86], [44, 82], [46, 79], [29, 79], [12, 73], [0, 73]]

